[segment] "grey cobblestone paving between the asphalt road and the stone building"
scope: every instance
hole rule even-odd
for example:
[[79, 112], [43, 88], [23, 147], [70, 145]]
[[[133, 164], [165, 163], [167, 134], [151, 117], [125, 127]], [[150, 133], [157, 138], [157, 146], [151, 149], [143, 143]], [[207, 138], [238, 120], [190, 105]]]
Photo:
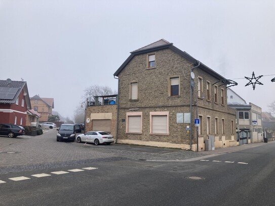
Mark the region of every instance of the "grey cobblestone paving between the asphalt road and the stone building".
[[134, 159], [147, 161], [189, 161], [206, 155], [217, 155], [265, 143], [249, 144], [193, 152], [181, 149], [155, 148], [135, 145], [98, 145], [57, 142], [57, 131], [45, 130], [40, 136], [0, 136], [0, 174], [25, 170], [56, 168], [80, 163]]

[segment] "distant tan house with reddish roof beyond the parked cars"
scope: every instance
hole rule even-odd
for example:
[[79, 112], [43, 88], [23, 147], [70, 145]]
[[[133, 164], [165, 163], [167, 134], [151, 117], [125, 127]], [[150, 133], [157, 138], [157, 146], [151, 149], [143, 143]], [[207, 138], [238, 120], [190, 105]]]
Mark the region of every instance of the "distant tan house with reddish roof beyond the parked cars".
[[42, 98], [35, 95], [30, 98], [31, 106], [34, 111], [40, 113], [40, 122], [48, 121], [49, 116], [52, 115], [54, 108], [54, 98]]

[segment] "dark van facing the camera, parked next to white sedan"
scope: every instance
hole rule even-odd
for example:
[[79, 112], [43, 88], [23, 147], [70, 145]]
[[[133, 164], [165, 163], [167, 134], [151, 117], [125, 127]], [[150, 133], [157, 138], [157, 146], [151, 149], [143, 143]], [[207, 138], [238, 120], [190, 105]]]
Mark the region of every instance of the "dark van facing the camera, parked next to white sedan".
[[75, 139], [75, 127], [72, 124], [66, 124], [62, 123], [57, 129], [58, 133], [56, 135], [56, 141], [59, 142], [60, 140], [69, 140], [69, 141], [74, 141]]

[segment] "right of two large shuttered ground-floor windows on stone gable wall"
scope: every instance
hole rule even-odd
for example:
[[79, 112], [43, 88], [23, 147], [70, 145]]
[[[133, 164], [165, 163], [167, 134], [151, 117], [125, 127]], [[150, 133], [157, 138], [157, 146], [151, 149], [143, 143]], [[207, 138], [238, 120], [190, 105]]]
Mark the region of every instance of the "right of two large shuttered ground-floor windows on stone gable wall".
[[169, 112], [150, 112], [150, 134], [169, 134]]

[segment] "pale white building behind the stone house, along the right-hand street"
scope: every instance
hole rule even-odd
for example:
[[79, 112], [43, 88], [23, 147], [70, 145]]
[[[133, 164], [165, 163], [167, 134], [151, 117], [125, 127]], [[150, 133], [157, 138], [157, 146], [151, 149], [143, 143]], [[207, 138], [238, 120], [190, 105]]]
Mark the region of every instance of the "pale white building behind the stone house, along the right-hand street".
[[235, 129], [240, 144], [262, 142], [262, 109], [249, 103], [230, 88], [227, 105], [236, 111]]

